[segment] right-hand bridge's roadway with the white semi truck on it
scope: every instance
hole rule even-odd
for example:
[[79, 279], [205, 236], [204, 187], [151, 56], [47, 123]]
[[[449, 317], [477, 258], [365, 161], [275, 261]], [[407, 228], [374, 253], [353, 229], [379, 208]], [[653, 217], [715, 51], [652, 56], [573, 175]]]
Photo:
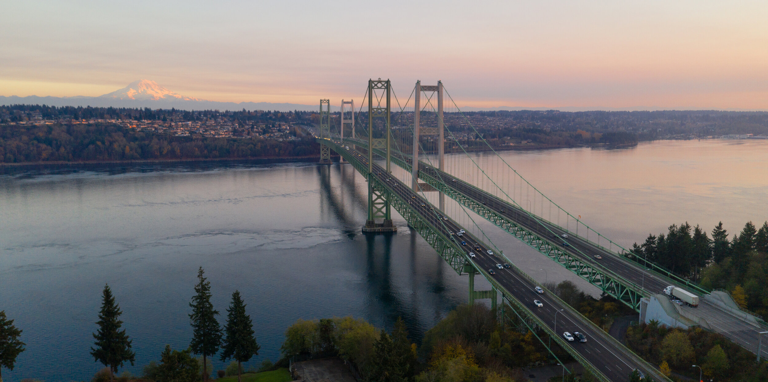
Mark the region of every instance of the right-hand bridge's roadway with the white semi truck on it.
[[[399, 159], [405, 160], [412, 165], [412, 159], [409, 156], [402, 153], [396, 153], [396, 155], [399, 156]], [[686, 289], [685, 285], [680, 285], [680, 283], [671, 281], [669, 278], [664, 278], [655, 272], [647, 272], [647, 269], [642, 265], [632, 262], [629, 259], [624, 259], [613, 252], [608, 252], [581, 237], [569, 236], [568, 239], [564, 239], [561, 235], [568, 235], [571, 232], [567, 232], [560, 226], [556, 226], [544, 219], [535, 219], [529, 215], [528, 212], [518, 208], [518, 206], [482, 191], [461, 179], [456, 179], [449, 173], [437, 170], [421, 161], [419, 161], [419, 171], [428, 173], [437, 179], [442, 179], [446, 185], [470, 199], [474, 199], [480, 203], [485, 202], [485, 207], [488, 209], [492, 209], [492, 211], [500, 216], [505, 216], [519, 226], [539, 235], [539, 237], [549, 239], [550, 242], [557, 242], [561, 250], [568, 252], [568, 254], [581, 260], [581, 262], [593, 265], [594, 268], [603, 268], [614, 275], [621, 276], [630, 282], [634, 282], [636, 285], [640, 285], [642, 289], [647, 291], [647, 293], [644, 294], [645, 296], [661, 293], [667, 285], [677, 285]], [[456, 182], [453, 182], [453, 179], [456, 179]], [[563, 242], [568, 242], [568, 246], [562, 245]], [[595, 255], [600, 255], [602, 259], [596, 259], [594, 257]], [[687, 290], [693, 291], [690, 288], [687, 288]], [[753, 353], [757, 353], [759, 332], [768, 329], [761, 328], [758, 324], [740, 318], [730, 311], [703, 298], [700, 298], [699, 301], [699, 306], [697, 308], [689, 307], [687, 305], [680, 306], [680, 308], [684, 311], [690, 311], [690, 313], [695, 314], [697, 317], [703, 318], [714, 331], [725, 335], [727, 338], [730, 338], [731, 341], [740, 344]], [[768, 350], [766, 350], [766, 347], [763, 347], [760, 352], [763, 357], [768, 357]]]

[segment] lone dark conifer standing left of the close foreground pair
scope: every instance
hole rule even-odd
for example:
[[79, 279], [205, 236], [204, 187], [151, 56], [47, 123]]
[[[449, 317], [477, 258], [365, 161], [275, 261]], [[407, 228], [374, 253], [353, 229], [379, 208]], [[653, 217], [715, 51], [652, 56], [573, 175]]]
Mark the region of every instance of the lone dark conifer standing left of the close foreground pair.
[[91, 355], [94, 356], [95, 361], [109, 367], [111, 379], [114, 379], [118, 367], [122, 367], [125, 361], [130, 361], [133, 366], [136, 357], [136, 353], [131, 351], [132, 340], [128, 339], [125, 329], [120, 330], [123, 321], [118, 318], [121, 314], [123, 312], [114, 301], [112, 290], [109, 285], [104, 285], [101, 311], [98, 314], [99, 321], [96, 322], [99, 328], [93, 334], [96, 348], [91, 347]]

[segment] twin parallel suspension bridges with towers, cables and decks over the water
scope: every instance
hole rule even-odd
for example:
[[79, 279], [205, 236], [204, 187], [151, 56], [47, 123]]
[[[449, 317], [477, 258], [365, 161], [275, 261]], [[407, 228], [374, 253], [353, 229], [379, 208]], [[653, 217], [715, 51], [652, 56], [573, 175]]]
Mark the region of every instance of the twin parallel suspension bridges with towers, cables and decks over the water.
[[[444, 107], [445, 95], [449, 107]], [[641, 321], [699, 326], [766, 355], [759, 347], [768, 324], [760, 316], [740, 309], [725, 291], [710, 291], [634, 256], [558, 206], [482, 138], [441, 81], [436, 85], [417, 81], [401, 105], [389, 80], [369, 80], [359, 110], [354, 110], [353, 101], [343, 100], [339, 123], [331, 120], [330, 101], [320, 100], [319, 131], [314, 132], [321, 145], [320, 163], [332, 163], [334, 152], [368, 183], [368, 217], [362, 231], [396, 232], [392, 223], [395, 209], [455, 272], [468, 275], [470, 304], [490, 298], [502, 323], [516, 322], [521, 330], [530, 330], [537, 337], [544, 333], [538, 339], [558, 362], [551, 351], [552, 341], [599, 380], [627, 380], [634, 369], [654, 380], [669, 380], [516, 267], [485, 234], [481, 220], [638, 311]], [[467, 129], [476, 137], [475, 143], [492, 153], [493, 162], [483, 163], [469, 154], [467, 134], [459, 135]], [[456, 153], [448, 160], [446, 145]], [[463, 231], [466, 233], [459, 237], [457, 232]], [[475, 275], [485, 278], [492, 289], [475, 291]], [[660, 295], [668, 285], [699, 295], [699, 306], [673, 304]], [[537, 287], [545, 293], [537, 293]], [[543, 306], [536, 306], [535, 299]], [[564, 331], [579, 331], [588, 341], [566, 341], [561, 335]]]

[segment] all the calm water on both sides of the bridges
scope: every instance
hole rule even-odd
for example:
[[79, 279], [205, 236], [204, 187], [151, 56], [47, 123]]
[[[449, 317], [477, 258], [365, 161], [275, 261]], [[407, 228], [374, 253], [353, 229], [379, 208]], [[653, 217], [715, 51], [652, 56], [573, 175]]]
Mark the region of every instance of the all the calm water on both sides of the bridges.
[[[488, 154], [477, 154], [484, 156]], [[508, 151], [508, 163], [598, 232], [631, 245], [688, 221], [736, 232], [768, 219], [768, 142], [660, 141], [621, 150]], [[236, 289], [259, 355], [276, 361], [298, 318], [402, 317], [412, 339], [466, 301], [456, 275], [405, 221], [366, 237], [366, 183], [349, 165], [176, 163], [8, 169], [0, 174], [0, 310], [27, 351], [3, 379], [90, 380], [101, 289], [133, 339], [134, 374], [165, 344], [185, 348], [197, 268], [215, 307]], [[509, 235], [485, 232], [543, 281], [570, 272]], [[487, 288], [478, 283], [477, 288]], [[214, 369], [223, 368], [215, 360]]]

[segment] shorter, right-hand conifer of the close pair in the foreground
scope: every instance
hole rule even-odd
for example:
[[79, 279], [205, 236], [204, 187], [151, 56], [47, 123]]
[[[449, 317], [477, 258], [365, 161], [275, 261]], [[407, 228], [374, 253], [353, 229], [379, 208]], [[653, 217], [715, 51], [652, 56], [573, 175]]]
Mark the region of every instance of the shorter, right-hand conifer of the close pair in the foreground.
[[234, 291], [230, 307], [227, 308], [227, 324], [224, 325], [227, 337], [224, 338], [221, 352], [221, 361], [230, 358], [237, 361], [237, 382], [240, 382], [240, 364], [258, 355], [260, 349], [256, 338], [253, 337], [253, 323], [250, 321], [250, 315], [245, 314], [245, 306], [240, 298], [240, 291]]

